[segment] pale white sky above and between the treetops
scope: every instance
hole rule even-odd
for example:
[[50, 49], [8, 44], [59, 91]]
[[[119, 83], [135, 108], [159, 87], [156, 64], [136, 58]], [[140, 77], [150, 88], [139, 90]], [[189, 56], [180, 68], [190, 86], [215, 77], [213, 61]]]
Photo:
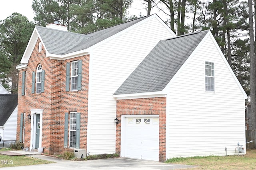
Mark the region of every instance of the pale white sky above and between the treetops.
[[[33, 0], [0, 0], [0, 20], [5, 20], [8, 16], [11, 16], [12, 13], [18, 12], [23, 16], [26, 16], [29, 21], [33, 21], [34, 11], [32, 9]], [[146, 16], [147, 12], [145, 9], [142, 9], [142, 0], [134, 0], [131, 8], [129, 9], [130, 15], [142, 14]], [[161, 14], [157, 10], [152, 9], [151, 14], [158, 13], [158, 16], [162, 18]], [[165, 20], [162, 18], [162, 20]]]

